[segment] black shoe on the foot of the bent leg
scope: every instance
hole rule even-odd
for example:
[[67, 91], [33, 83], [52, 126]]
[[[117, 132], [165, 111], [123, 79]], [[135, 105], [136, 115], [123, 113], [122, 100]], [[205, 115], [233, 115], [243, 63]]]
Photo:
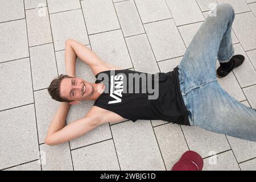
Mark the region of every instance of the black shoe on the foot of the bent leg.
[[232, 70], [233, 70], [234, 68], [239, 67], [239, 66], [243, 63], [243, 61], [245, 61], [245, 56], [243, 56], [243, 55], [234, 55], [234, 56], [230, 59], [230, 61], [233, 61], [233, 62], [234, 62], [232, 68], [229, 68], [229, 69], [227, 70], [227, 69], [222, 68], [221, 66], [218, 67], [218, 69], [217, 69], [217, 71], [216, 71], [216, 72], [217, 72], [216, 76], [217, 76], [218, 78], [223, 78], [223, 77], [229, 75], [229, 73], [232, 72]]

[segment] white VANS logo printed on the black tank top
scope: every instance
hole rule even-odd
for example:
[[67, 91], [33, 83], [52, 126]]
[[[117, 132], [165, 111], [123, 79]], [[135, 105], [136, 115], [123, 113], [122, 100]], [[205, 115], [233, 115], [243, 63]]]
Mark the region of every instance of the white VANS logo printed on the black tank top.
[[[118, 102], [122, 102], [122, 99], [119, 97], [122, 97], [123, 92], [123, 75], [111, 75], [110, 78], [110, 97], [114, 98], [114, 101], [109, 101], [108, 104], [114, 104]], [[115, 96], [116, 95], [116, 96]], [[119, 97], [117, 97], [119, 96]]]

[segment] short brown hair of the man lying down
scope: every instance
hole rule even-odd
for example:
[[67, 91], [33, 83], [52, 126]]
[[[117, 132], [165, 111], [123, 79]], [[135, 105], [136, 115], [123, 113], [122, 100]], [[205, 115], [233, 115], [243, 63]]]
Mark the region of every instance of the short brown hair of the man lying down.
[[57, 78], [53, 79], [51, 84], [48, 87], [48, 92], [52, 99], [59, 101], [59, 102], [72, 102], [65, 97], [60, 97], [60, 83], [63, 78], [73, 78], [68, 75], [60, 75]]

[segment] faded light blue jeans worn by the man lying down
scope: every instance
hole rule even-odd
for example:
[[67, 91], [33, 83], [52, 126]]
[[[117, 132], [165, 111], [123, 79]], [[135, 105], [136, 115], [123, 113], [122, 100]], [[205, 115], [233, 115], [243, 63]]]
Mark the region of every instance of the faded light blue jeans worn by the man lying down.
[[230, 96], [216, 77], [216, 59], [225, 63], [234, 55], [231, 38], [234, 10], [223, 3], [213, 11], [217, 16], [205, 19], [178, 65], [189, 123], [256, 142], [256, 111]]

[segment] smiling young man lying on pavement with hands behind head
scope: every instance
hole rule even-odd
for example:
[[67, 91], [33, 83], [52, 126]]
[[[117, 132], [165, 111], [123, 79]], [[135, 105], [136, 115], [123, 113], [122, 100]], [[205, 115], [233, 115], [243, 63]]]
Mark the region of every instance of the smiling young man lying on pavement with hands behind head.
[[[131, 87], [124, 77], [135, 73], [148, 78], [152, 75], [110, 65], [75, 40], [67, 40], [65, 65], [68, 76], [59, 76], [48, 88], [52, 98], [61, 101], [61, 105], [49, 126], [45, 143], [60, 144], [103, 123], [127, 119], [134, 122], [137, 119], [162, 119], [256, 141], [256, 111], [229, 96], [216, 77], [217, 58], [220, 61], [218, 77], [228, 75], [244, 60], [242, 55], [233, 56], [231, 31], [234, 10], [228, 4], [221, 4], [213, 11], [216, 15], [208, 16], [204, 21], [174, 71], [156, 73], [150, 80], [158, 81], [155, 99], [149, 99], [148, 93], [123, 92], [125, 82], [127, 88]], [[95, 83], [76, 77], [77, 56], [90, 66], [97, 78]], [[139, 90], [149, 83], [139, 84]], [[84, 118], [65, 126], [69, 106], [79, 104], [81, 100], [95, 102]]]

